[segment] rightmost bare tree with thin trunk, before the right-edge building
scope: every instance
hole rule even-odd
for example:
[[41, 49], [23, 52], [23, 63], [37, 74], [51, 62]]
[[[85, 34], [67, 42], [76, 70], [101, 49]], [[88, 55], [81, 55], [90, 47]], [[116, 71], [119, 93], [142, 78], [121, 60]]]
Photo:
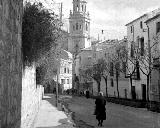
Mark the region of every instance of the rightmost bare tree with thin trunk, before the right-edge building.
[[[155, 67], [155, 61], [160, 57], [160, 50], [158, 45], [160, 42], [160, 34], [153, 37], [153, 42], [150, 44], [148, 41], [148, 46], [136, 48], [137, 53], [135, 59], [139, 62], [140, 71], [147, 77], [147, 101], [149, 101], [149, 87], [151, 80], [151, 73], [153, 70], [159, 70], [159, 67]], [[158, 55], [158, 56], [157, 56]]]

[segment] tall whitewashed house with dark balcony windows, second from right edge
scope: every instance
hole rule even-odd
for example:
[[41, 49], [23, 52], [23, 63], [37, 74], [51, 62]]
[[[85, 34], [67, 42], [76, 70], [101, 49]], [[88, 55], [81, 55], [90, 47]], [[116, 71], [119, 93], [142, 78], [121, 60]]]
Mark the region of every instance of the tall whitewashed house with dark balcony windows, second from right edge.
[[[146, 20], [154, 17], [160, 9], [146, 13], [139, 18], [126, 24], [128, 39], [128, 65], [130, 71], [134, 71], [132, 91], [136, 94], [136, 99], [147, 99], [147, 76], [149, 63], [144, 60], [148, 56], [148, 28]], [[138, 58], [138, 59], [137, 59]], [[134, 64], [133, 64], [134, 63]], [[130, 89], [131, 90], [131, 89]]]

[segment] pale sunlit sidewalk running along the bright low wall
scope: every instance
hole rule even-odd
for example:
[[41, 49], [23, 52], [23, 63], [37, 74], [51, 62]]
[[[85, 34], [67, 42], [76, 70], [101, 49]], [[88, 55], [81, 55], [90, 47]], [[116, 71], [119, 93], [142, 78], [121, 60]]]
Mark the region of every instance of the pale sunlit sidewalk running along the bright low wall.
[[55, 107], [55, 95], [45, 94], [33, 128], [74, 128], [69, 117]]

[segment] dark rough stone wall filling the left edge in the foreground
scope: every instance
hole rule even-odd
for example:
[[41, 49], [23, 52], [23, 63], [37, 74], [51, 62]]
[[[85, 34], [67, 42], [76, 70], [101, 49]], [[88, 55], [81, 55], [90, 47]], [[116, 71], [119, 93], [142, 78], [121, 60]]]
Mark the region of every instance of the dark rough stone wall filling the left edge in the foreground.
[[23, 0], [0, 0], [0, 128], [21, 124]]

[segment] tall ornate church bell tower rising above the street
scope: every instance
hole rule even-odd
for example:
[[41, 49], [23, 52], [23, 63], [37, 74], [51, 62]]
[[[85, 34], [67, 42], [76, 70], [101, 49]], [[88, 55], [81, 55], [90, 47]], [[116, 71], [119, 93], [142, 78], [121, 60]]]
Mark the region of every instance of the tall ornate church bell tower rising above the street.
[[70, 11], [69, 17], [69, 33], [68, 50], [73, 55], [78, 55], [81, 49], [91, 46], [90, 17], [86, 0], [73, 0], [73, 11]]

